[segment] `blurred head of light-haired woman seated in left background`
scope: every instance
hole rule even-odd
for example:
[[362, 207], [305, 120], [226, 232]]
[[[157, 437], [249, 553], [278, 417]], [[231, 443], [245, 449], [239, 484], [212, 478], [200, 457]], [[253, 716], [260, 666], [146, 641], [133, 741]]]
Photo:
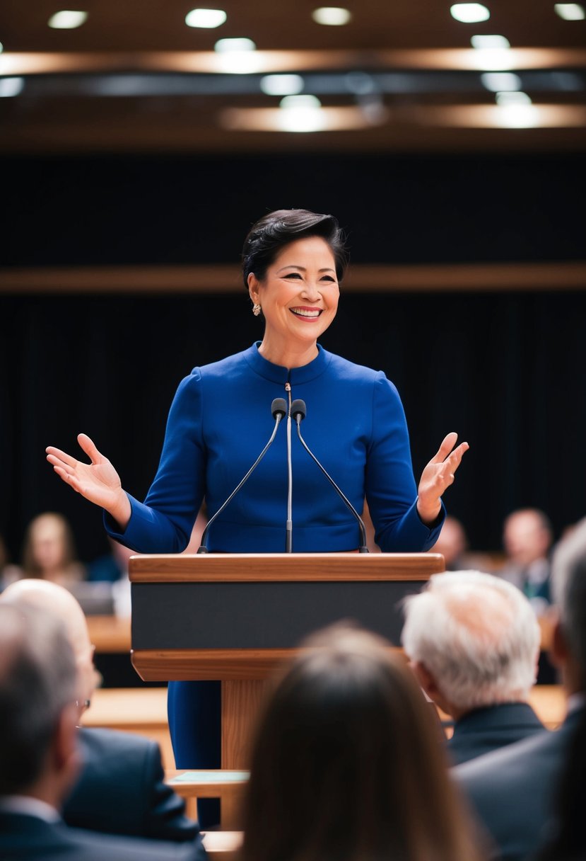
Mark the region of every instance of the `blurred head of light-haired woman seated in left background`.
[[76, 549], [70, 524], [62, 514], [46, 511], [27, 526], [22, 551], [25, 577], [39, 577], [67, 585], [79, 579]]

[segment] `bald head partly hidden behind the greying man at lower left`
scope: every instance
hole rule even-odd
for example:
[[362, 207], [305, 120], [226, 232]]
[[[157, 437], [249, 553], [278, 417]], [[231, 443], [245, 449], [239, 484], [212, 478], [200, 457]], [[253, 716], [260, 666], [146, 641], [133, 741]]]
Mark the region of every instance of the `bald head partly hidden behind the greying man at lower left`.
[[94, 666], [94, 647], [89, 640], [86, 617], [76, 598], [64, 586], [48, 580], [24, 579], [10, 584], [0, 595], [0, 605], [12, 604], [17, 608], [50, 609], [64, 627], [76, 660], [76, 699], [88, 706], [95, 691], [98, 675]]

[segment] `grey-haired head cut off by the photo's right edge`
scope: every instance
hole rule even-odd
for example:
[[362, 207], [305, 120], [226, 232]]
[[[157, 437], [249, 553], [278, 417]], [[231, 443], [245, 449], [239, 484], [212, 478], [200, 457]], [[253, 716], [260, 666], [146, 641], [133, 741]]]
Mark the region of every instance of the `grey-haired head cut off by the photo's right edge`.
[[559, 620], [554, 658], [569, 692], [586, 691], [586, 518], [554, 549], [552, 597]]

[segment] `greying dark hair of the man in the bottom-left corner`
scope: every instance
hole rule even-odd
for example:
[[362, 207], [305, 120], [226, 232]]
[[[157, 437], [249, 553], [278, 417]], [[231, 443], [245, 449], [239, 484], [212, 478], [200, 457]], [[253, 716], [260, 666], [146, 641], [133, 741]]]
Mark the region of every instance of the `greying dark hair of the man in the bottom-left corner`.
[[75, 698], [63, 624], [37, 607], [0, 602], [0, 796], [40, 777], [59, 716]]

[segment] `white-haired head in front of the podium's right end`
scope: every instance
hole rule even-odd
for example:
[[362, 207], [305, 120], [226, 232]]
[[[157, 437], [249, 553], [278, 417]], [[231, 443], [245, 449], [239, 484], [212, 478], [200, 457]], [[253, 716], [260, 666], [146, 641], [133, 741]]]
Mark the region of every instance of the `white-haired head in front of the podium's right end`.
[[469, 710], [526, 700], [540, 629], [516, 586], [479, 571], [434, 574], [405, 603], [402, 642], [449, 703]]

